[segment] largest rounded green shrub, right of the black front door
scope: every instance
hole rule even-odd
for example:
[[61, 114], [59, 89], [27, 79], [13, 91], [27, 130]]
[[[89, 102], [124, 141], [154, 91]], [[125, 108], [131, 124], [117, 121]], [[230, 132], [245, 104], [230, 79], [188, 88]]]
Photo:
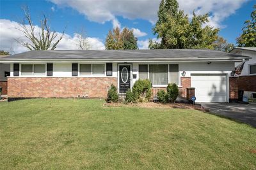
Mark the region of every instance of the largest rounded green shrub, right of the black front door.
[[152, 87], [152, 84], [148, 79], [137, 80], [132, 87], [132, 93], [134, 94], [134, 99], [139, 102], [149, 101], [152, 95], [151, 87]]

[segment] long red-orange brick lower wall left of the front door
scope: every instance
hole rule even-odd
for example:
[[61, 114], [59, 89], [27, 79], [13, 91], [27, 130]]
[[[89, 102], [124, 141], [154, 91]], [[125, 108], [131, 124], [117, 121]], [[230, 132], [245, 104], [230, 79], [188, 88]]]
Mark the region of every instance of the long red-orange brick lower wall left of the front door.
[[113, 77], [41, 77], [8, 78], [8, 98], [23, 97], [89, 97], [106, 98]]

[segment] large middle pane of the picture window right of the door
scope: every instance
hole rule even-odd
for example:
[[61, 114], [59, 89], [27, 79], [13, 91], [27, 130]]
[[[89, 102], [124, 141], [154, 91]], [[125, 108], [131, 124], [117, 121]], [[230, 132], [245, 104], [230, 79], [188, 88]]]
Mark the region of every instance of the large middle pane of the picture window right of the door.
[[168, 84], [168, 65], [167, 64], [150, 64], [149, 80], [153, 85]]

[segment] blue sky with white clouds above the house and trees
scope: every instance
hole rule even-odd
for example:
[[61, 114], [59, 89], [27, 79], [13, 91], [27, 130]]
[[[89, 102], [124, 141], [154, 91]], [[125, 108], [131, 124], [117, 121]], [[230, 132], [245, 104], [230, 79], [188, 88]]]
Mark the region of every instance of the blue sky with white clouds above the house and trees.
[[[209, 25], [220, 28], [220, 36], [236, 44], [245, 20], [250, 19], [255, 0], [178, 0], [180, 10], [191, 16], [209, 13]], [[160, 0], [0, 0], [0, 50], [25, 52], [17, 43], [26, 41], [15, 29], [24, 17], [22, 6], [28, 6], [33, 25], [38, 32], [45, 14], [51, 29], [65, 35], [56, 50], [77, 50], [77, 32], [83, 27], [90, 49], [103, 50], [108, 31], [113, 27], [133, 29], [139, 49], [148, 48], [148, 39], [159, 41], [152, 33], [157, 20]]]

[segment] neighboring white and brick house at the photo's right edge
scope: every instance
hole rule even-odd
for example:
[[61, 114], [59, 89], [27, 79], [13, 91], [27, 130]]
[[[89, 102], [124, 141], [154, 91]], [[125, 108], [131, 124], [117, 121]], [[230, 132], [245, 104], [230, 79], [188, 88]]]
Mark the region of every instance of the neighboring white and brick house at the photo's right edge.
[[[256, 99], [256, 47], [236, 47], [230, 53], [252, 58], [244, 63], [243, 71], [238, 78], [238, 88], [244, 90], [244, 96]], [[239, 62], [236, 62], [235, 66], [238, 64]]]

